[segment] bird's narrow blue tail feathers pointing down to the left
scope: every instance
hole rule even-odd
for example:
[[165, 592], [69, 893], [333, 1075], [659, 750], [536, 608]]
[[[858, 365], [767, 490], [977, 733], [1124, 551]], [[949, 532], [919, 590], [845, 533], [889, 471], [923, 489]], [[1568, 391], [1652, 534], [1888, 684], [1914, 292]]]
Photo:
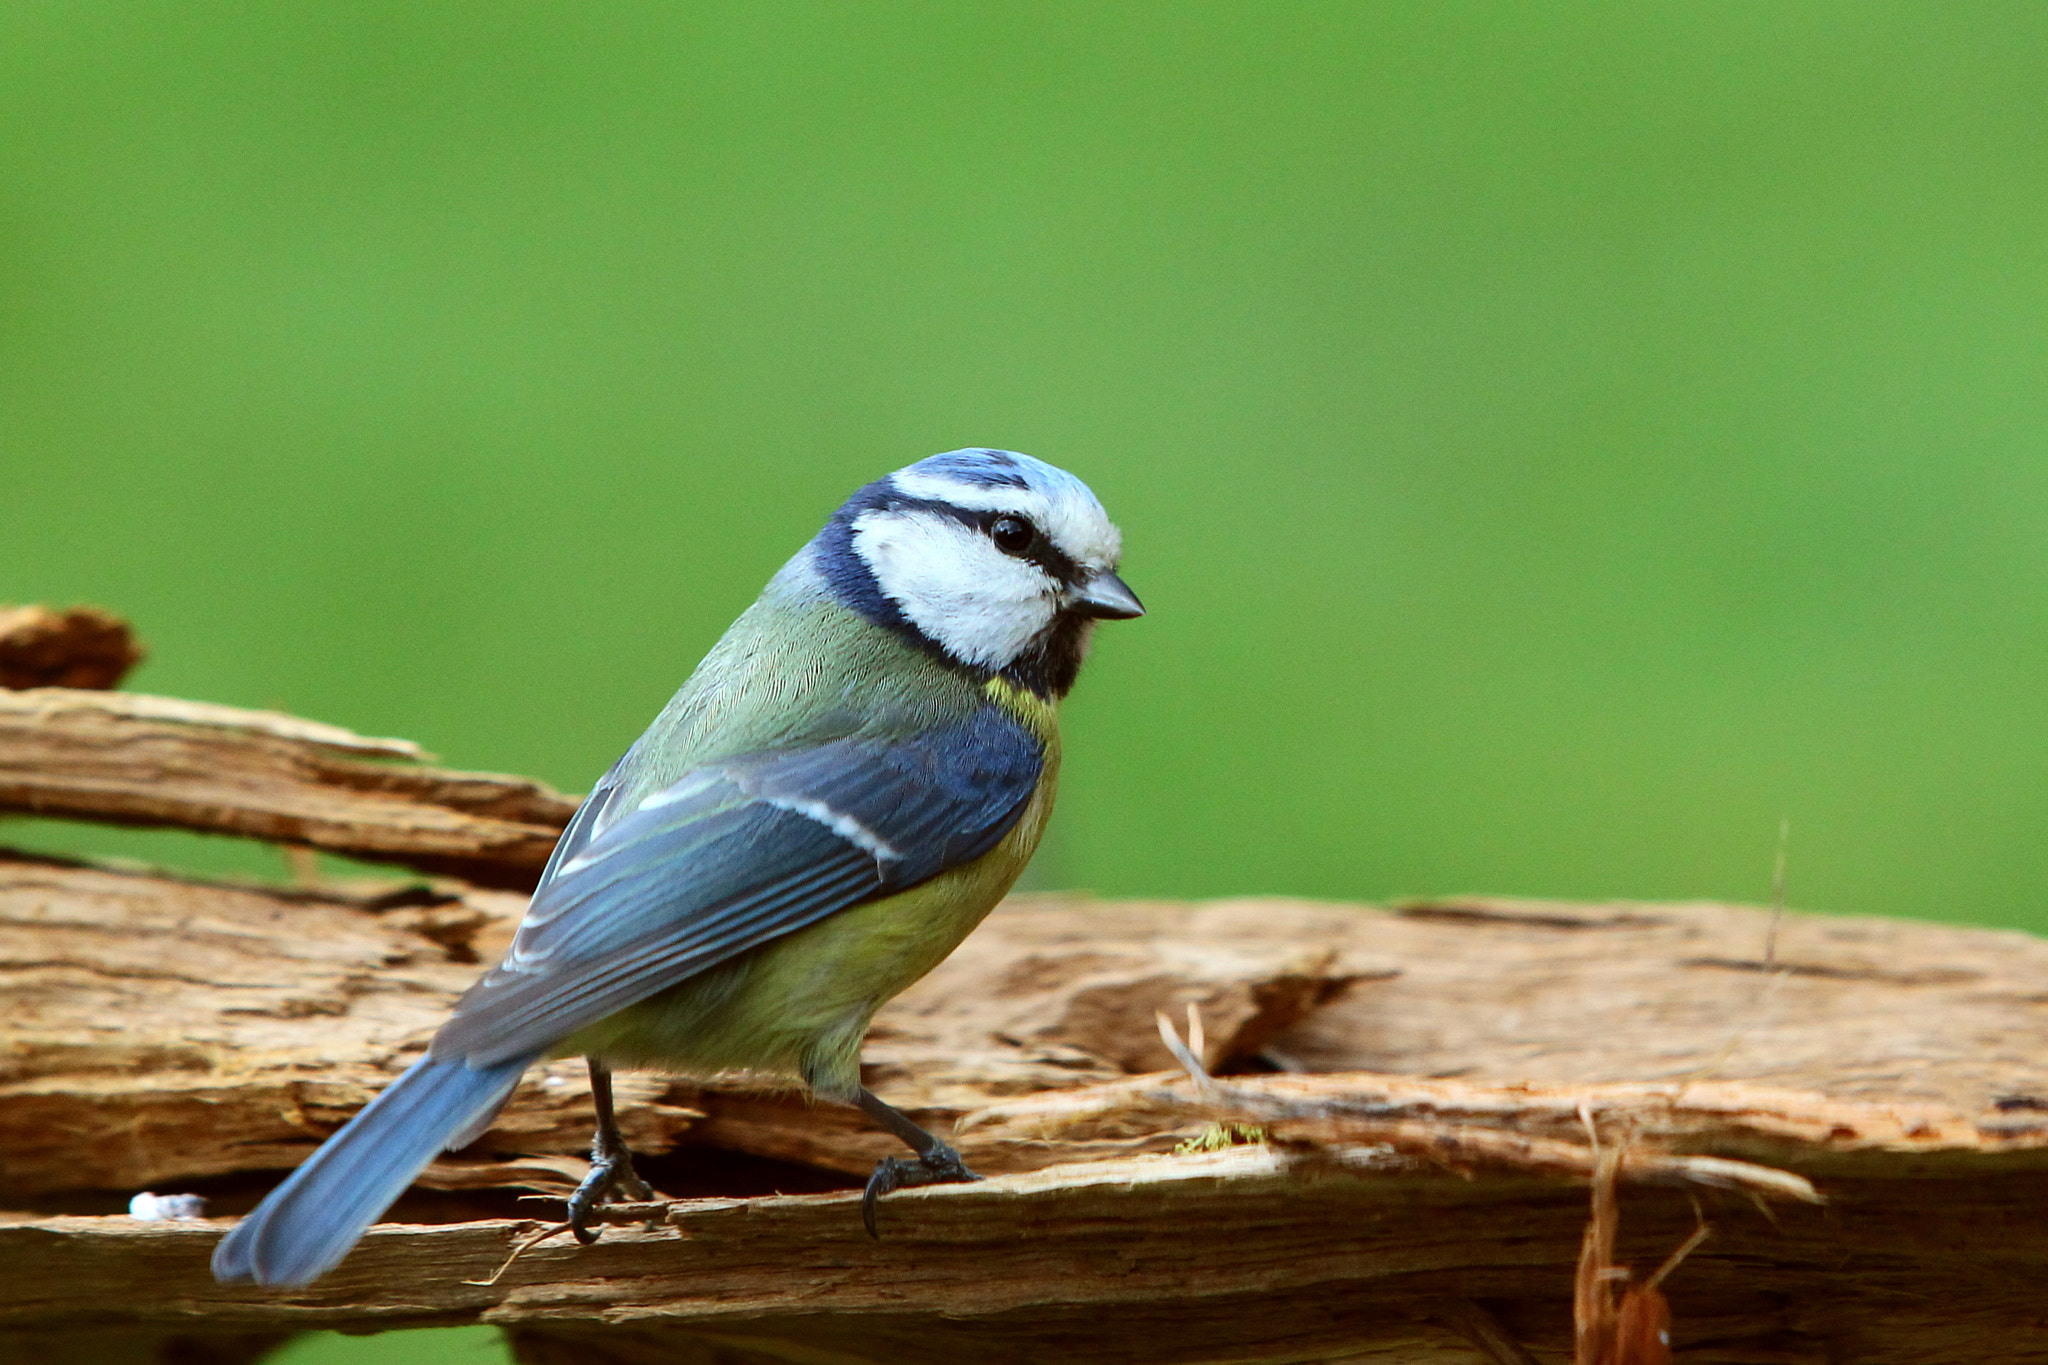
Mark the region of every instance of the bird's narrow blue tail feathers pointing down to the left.
[[305, 1285], [332, 1271], [426, 1162], [489, 1124], [532, 1060], [414, 1062], [236, 1224], [213, 1248], [213, 1277]]

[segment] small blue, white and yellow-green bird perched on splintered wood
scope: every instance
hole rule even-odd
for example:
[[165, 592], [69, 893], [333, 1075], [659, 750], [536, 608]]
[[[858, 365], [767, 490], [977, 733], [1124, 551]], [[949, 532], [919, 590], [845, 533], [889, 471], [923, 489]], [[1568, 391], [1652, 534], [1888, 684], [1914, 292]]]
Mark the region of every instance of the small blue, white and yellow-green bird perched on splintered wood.
[[614, 1066], [856, 1105], [911, 1152], [874, 1166], [870, 1234], [879, 1197], [981, 1179], [860, 1083], [860, 1044], [1038, 847], [1059, 702], [1096, 622], [1145, 614], [1120, 557], [1090, 487], [1016, 450], [858, 489], [598, 780], [424, 1056], [227, 1232], [213, 1275], [319, 1279], [545, 1058], [590, 1070], [592, 1164], [567, 1201], [586, 1244], [608, 1197], [653, 1197]]

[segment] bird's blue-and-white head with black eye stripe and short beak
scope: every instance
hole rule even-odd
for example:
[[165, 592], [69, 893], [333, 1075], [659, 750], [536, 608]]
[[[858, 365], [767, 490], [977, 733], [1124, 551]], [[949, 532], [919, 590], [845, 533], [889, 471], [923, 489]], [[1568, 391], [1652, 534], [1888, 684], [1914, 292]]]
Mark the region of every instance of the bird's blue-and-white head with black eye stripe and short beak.
[[1014, 450], [948, 450], [846, 499], [817, 567], [870, 620], [946, 659], [1059, 696], [1096, 620], [1143, 616], [1116, 577], [1122, 538], [1063, 469]]

